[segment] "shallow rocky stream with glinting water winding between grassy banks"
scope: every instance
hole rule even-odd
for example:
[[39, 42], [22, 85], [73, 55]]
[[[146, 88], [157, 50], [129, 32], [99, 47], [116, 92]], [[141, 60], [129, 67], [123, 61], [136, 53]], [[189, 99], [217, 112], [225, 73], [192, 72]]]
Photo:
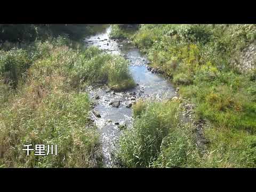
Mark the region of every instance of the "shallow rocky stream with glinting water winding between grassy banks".
[[[98, 85], [89, 88], [90, 97], [96, 102], [95, 111], [101, 115], [100, 118], [92, 114], [95, 124], [101, 130], [103, 162], [106, 167], [116, 167], [114, 151], [118, 147], [118, 138], [122, 133], [119, 125], [127, 125], [129, 129], [132, 125], [132, 109], [126, 107], [127, 102], [132, 99], [148, 98], [152, 100], [170, 99], [175, 95], [173, 85], [163, 76], [151, 73], [147, 70], [147, 58], [143, 57], [140, 51], [131, 42], [114, 41], [109, 39], [111, 27], [103, 33], [99, 33], [84, 39], [85, 46], [98, 46], [100, 49], [124, 56], [130, 62], [131, 75], [138, 85], [129, 91], [113, 92], [107, 91], [106, 85]], [[134, 94], [135, 95], [131, 95]], [[99, 99], [95, 99], [96, 96]], [[119, 100], [121, 105], [116, 108], [109, 105], [110, 101]]]

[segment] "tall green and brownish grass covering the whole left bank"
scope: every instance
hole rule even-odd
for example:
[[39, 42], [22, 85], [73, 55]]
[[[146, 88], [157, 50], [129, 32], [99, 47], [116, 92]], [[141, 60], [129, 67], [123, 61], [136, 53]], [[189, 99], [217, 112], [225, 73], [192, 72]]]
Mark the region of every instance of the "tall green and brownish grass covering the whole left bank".
[[[68, 38], [36, 41], [0, 54], [0, 166], [99, 167], [99, 132], [89, 119], [87, 84], [115, 90], [134, 82], [127, 62]], [[54, 144], [58, 155], [26, 156], [23, 145]]]

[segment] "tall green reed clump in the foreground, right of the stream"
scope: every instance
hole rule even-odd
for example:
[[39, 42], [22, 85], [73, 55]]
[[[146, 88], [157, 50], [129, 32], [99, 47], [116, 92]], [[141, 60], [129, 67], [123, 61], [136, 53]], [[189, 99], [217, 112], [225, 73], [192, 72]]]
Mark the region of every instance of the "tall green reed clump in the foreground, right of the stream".
[[179, 101], [138, 102], [132, 129], [120, 139], [117, 156], [124, 167], [195, 167], [199, 150], [191, 126], [180, 121]]

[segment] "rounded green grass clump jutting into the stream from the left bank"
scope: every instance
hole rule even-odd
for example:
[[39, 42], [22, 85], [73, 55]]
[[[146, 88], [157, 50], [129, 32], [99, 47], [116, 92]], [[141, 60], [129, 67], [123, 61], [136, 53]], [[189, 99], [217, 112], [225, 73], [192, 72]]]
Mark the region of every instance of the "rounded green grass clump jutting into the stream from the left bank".
[[135, 86], [128, 62], [117, 55], [102, 53], [96, 47], [84, 51], [74, 68], [79, 78], [91, 83], [107, 83], [116, 91]]

